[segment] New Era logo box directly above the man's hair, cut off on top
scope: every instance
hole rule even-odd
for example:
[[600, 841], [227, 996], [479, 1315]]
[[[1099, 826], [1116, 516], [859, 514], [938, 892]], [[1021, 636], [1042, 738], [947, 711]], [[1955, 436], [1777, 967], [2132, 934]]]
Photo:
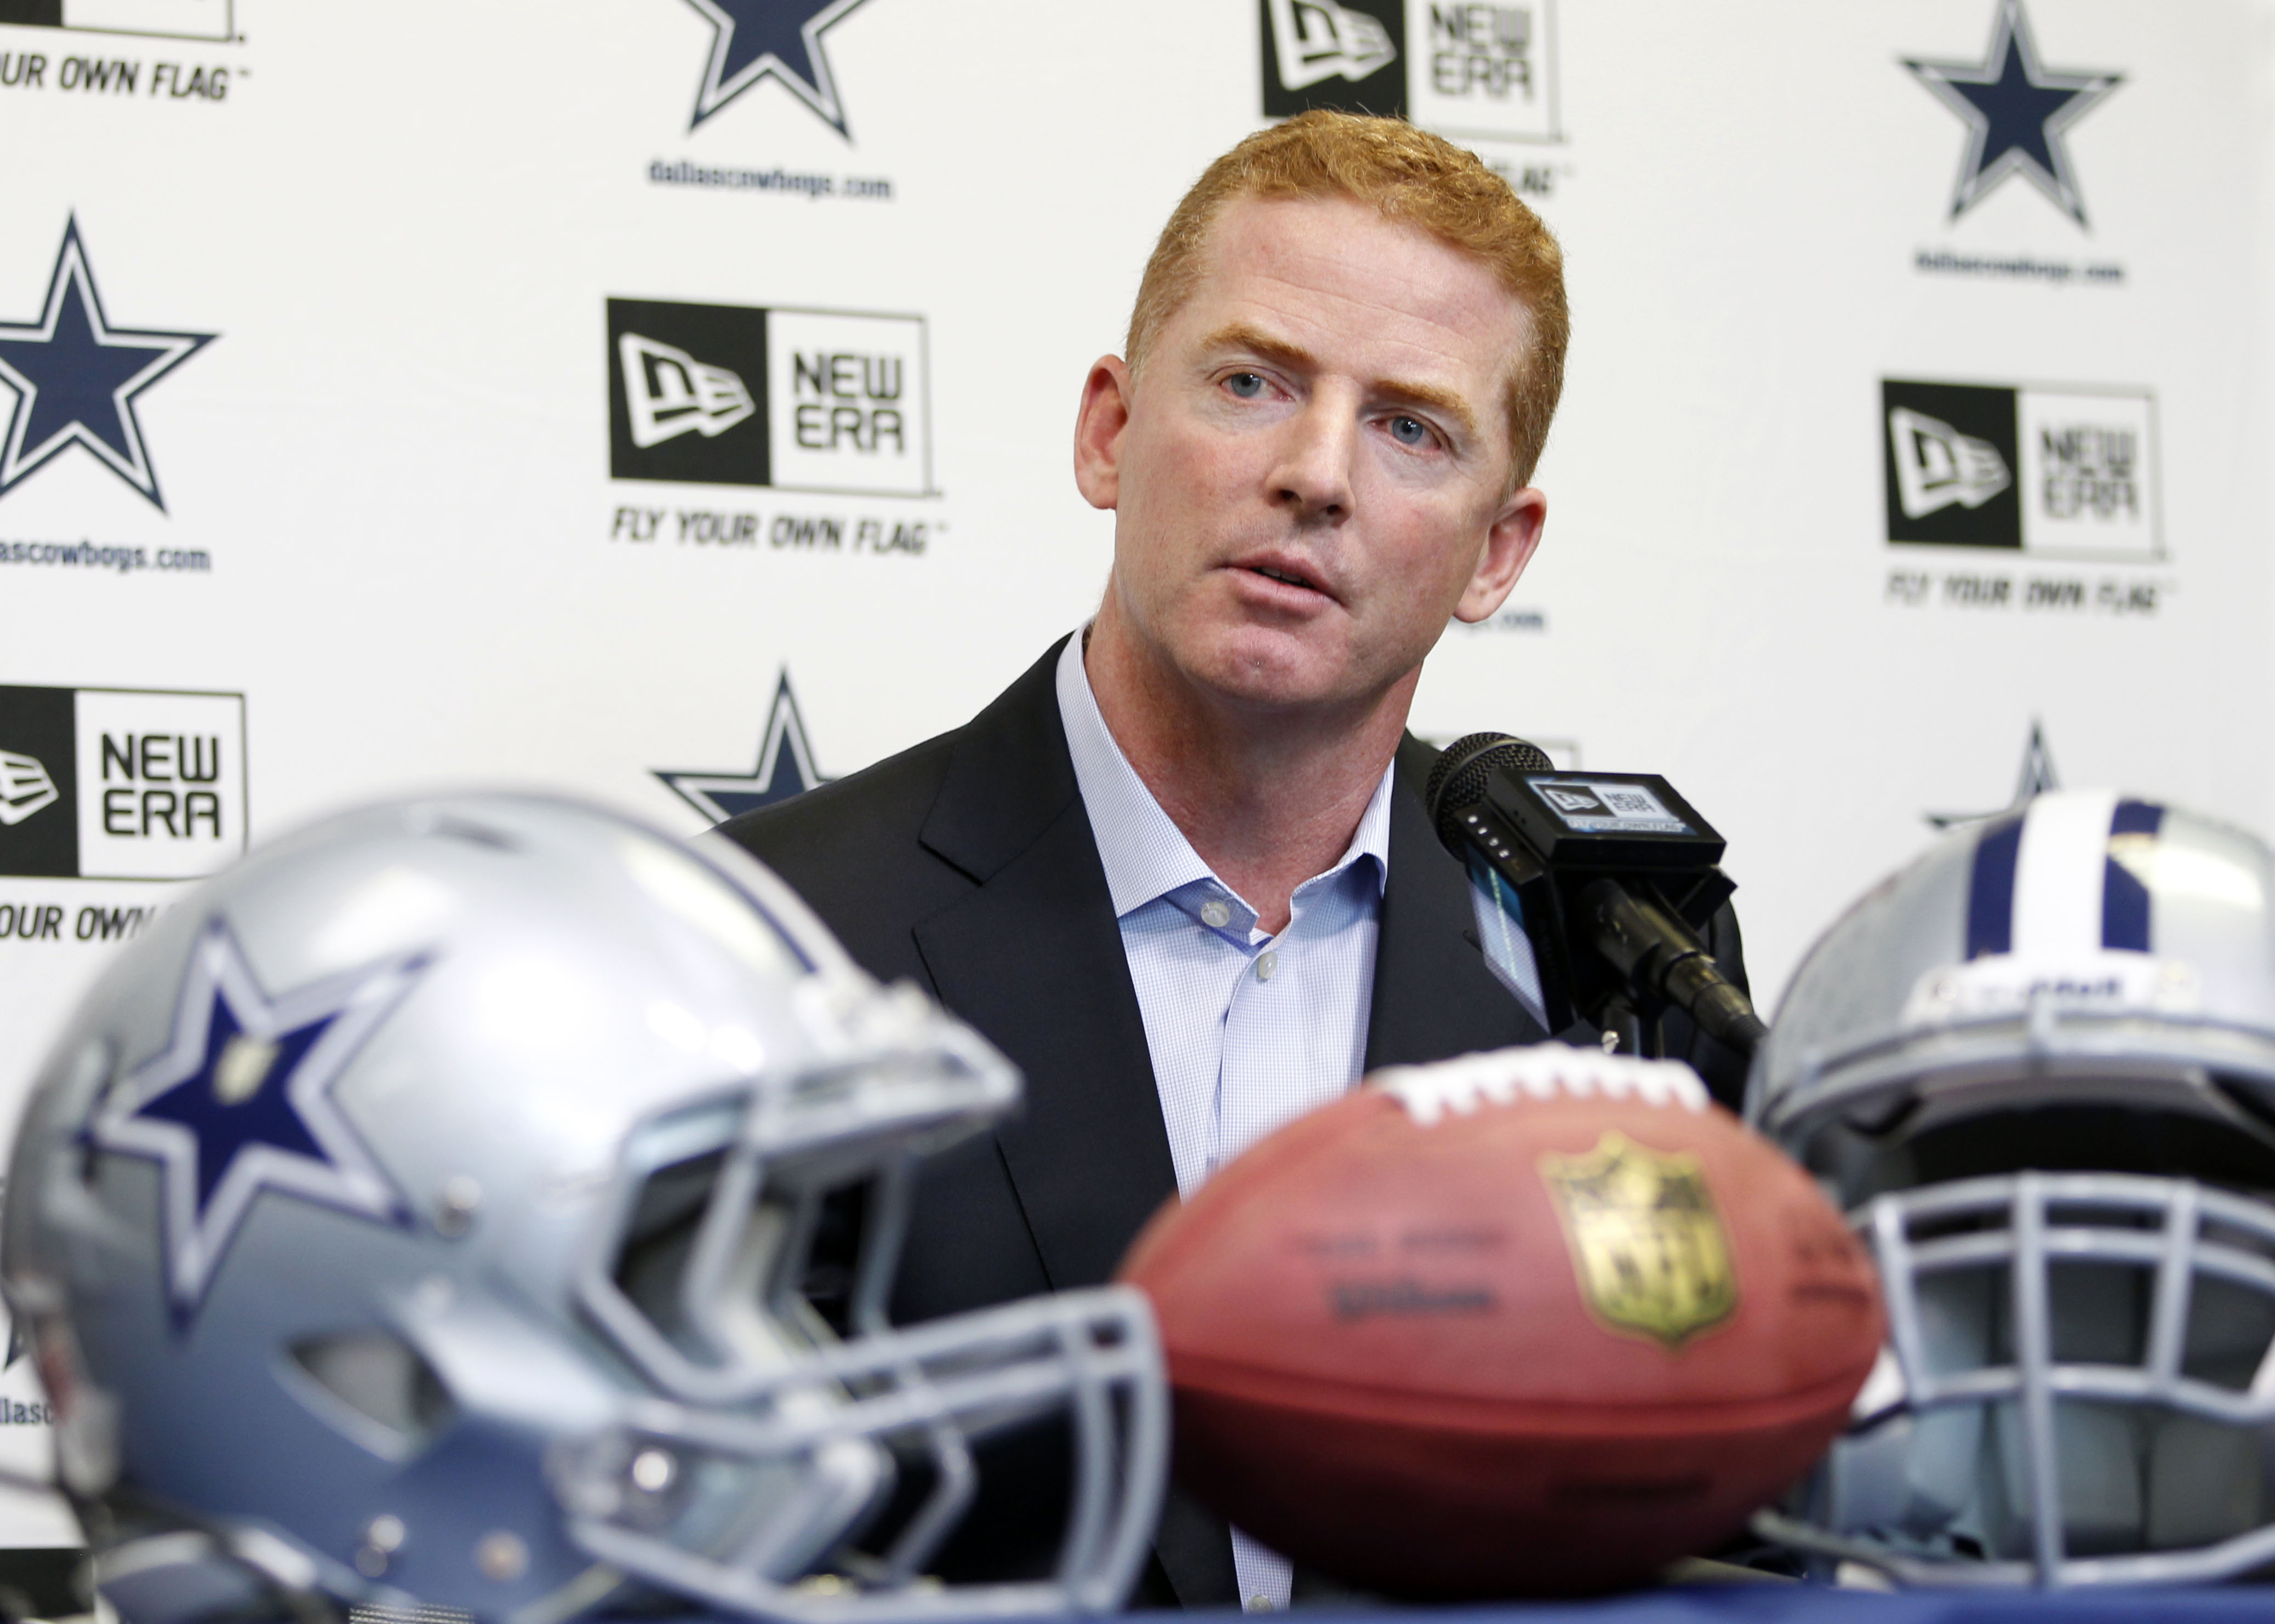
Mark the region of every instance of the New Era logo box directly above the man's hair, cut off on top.
[[1461, 141], [1561, 141], [1556, 0], [1258, 0], [1265, 118], [1410, 118]]

